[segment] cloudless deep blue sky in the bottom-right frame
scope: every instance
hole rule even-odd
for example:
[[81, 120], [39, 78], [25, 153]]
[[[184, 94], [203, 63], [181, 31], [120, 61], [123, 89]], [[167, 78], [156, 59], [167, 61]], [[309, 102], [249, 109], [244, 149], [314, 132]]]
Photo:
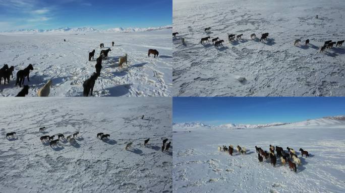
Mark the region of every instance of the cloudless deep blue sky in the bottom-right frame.
[[175, 97], [172, 99], [172, 121], [175, 123], [201, 122], [209, 125], [290, 123], [336, 115], [345, 115], [345, 98]]

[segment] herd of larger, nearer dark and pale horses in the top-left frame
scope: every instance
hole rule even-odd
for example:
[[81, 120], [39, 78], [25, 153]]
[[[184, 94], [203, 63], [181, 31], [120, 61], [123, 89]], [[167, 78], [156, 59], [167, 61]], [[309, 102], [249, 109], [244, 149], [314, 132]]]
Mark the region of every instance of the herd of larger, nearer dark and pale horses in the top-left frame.
[[[64, 42], [66, 42], [66, 39], [64, 39]], [[111, 42], [111, 45], [114, 46], [114, 42]], [[104, 48], [104, 43], [100, 43], [99, 46], [101, 49]], [[93, 87], [95, 85], [95, 82], [97, 78], [100, 76], [100, 72], [102, 69], [102, 60], [106, 60], [108, 58], [108, 53], [111, 51], [110, 48], [106, 50], [101, 50], [99, 57], [96, 58], [96, 64], [95, 69], [96, 72], [94, 72], [88, 79], [86, 79], [83, 82], [83, 96], [88, 96], [89, 93], [92, 95], [93, 93]], [[150, 55], [153, 55], [154, 58], [159, 55], [159, 52], [155, 49], [149, 49], [148, 50], [148, 57]], [[95, 50], [92, 50], [89, 52], [89, 61], [94, 59]], [[127, 59], [128, 55], [127, 53], [125, 56], [119, 57], [119, 67], [122, 68], [123, 64], [128, 62]], [[22, 87], [22, 84], [24, 84], [25, 77], [27, 78], [28, 82], [30, 82], [30, 70], [34, 70], [32, 64], [29, 64], [26, 68], [19, 70], [17, 72], [17, 79], [16, 79], [16, 86], [19, 85], [19, 87]], [[9, 67], [8, 64], [4, 64], [2, 68], [0, 68], [0, 84], [2, 82], [2, 79], [4, 79], [4, 84], [6, 84], [6, 81], [10, 83], [10, 78], [13, 78], [13, 71], [14, 66]], [[50, 93], [50, 86], [52, 84], [51, 80], [48, 80], [47, 83], [45, 83], [41, 88], [37, 91], [37, 96], [49, 96]], [[16, 95], [16, 96], [25, 96], [29, 93], [29, 85], [24, 85], [23, 89]]]

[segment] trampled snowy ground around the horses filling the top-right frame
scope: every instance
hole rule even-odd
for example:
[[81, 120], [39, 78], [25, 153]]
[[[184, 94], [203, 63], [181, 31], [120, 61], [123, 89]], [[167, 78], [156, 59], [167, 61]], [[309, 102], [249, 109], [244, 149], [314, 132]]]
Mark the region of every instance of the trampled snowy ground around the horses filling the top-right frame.
[[[173, 8], [179, 35], [173, 40], [172, 95], [345, 95], [345, 44], [319, 53], [325, 41], [345, 39], [345, 1], [176, 0]], [[267, 41], [260, 42], [266, 32]], [[228, 34], [243, 37], [229, 43]], [[207, 36], [224, 46], [200, 44]], [[294, 46], [296, 39], [302, 42]]]

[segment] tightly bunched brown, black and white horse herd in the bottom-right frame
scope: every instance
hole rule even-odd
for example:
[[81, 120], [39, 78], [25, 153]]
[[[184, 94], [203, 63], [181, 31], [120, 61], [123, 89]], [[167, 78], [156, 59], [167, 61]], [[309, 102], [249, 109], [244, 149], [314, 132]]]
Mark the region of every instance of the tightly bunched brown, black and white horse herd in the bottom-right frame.
[[[296, 151], [292, 148], [286, 147], [287, 151], [284, 151], [282, 147], [278, 146], [272, 146], [269, 145], [269, 151], [263, 150], [261, 147], [255, 146], [256, 153], [258, 153], [258, 159], [259, 162], [263, 162], [263, 159], [270, 160], [271, 165], [275, 167], [277, 163], [277, 159], [280, 159], [281, 165], [285, 166], [286, 163], [289, 164], [289, 169], [291, 171], [297, 172], [297, 166], [301, 165], [301, 159], [298, 158]], [[236, 147], [236, 150], [239, 154], [246, 154], [247, 150], [245, 147], [240, 147], [239, 145]], [[233, 145], [226, 146], [218, 146], [218, 151], [224, 151], [228, 152], [229, 155], [233, 155], [234, 153], [234, 147]], [[306, 157], [309, 157], [308, 151], [303, 150], [300, 148], [301, 156], [305, 155]]]

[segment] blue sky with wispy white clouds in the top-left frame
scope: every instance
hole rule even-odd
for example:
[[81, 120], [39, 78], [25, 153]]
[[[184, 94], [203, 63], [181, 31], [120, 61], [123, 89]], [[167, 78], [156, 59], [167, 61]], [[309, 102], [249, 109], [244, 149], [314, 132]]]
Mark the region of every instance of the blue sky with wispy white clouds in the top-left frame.
[[172, 0], [0, 0], [0, 31], [172, 24]]

